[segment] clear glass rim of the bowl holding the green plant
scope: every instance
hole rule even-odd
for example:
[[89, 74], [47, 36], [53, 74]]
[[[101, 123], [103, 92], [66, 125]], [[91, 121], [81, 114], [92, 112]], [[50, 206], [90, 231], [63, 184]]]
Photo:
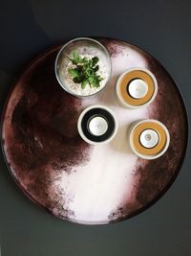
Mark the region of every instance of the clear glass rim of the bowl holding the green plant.
[[[64, 84], [60, 81], [59, 76], [58, 76], [58, 73], [57, 73], [57, 62], [58, 62], [58, 58], [60, 57], [62, 51], [63, 51], [70, 43], [72, 43], [72, 42], [74, 42], [74, 41], [79, 41], [79, 40], [88, 40], [88, 41], [93, 41], [93, 42], [95, 42], [96, 44], [98, 44], [98, 45], [104, 50], [104, 52], [105, 52], [105, 54], [106, 54], [106, 56], [107, 56], [107, 58], [108, 58], [108, 63], [109, 63], [109, 76], [108, 76], [108, 79], [107, 79], [107, 81], [105, 81], [104, 86], [103, 86], [100, 90], [98, 90], [98, 91], [96, 91], [96, 93], [93, 93], [93, 94], [90, 94], [90, 95], [78, 95], [78, 94], [75, 94], [74, 92], [72, 92], [72, 91], [70, 91], [70, 90], [67, 90], [67, 86], [64, 86]], [[73, 96], [75, 96], [75, 97], [77, 97], [77, 98], [87, 98], [87, 97], [95, 96], [96, 94], [98, 94], [99, 92], [101, 92], [101, 91], [105, 88], [105, 86], [107, 85], [107, 83], [110, 81], [111, 75], [112, 75], [112, 60], [111, 60], [111, 58], [110, 58], [110, 54], [109, 54], [108, 50], [106, 49], [106, 47], [105, 47], [102, 43], [100, 43], [99, 41], [97, 41], [96, 39], [91, 38], [91, 37], [76, 37], [76, 38], [74, 38], [74, 39], [72, 39], [72, 40], [67, 41], [67, 42], [61, 47], [61, 49], [59, 50], [59, 52], [57, 53], [56, 58], [55, 58], [55, 61], [54, 61], [54, 73], [55, 73], [56, 80], [58, 81], [58, 83], [60, 84], [60, 86], [61, 86], [67, 93], [69, 93], [69, 94], [71, 94], [71, 95], [73, 95]]]

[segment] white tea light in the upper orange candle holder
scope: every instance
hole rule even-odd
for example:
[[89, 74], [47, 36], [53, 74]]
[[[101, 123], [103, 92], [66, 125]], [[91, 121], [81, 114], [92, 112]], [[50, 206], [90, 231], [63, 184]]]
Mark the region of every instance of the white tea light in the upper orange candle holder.
[[128, 91], [131, 97], [134, 99], [140, 99], [147, 94], [148, 85], [143, 80], [135, 79], [130, 81]]

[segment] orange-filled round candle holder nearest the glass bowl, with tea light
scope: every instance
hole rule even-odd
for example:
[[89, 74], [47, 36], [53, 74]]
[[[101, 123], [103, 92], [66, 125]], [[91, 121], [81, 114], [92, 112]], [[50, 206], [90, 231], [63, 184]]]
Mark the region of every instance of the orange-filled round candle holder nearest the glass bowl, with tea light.
[[132, 68], [122, 73], [116, 84], [119, 103], [128, 108], [150, 105], [158, 93], [158, 82], [148, 69]]

